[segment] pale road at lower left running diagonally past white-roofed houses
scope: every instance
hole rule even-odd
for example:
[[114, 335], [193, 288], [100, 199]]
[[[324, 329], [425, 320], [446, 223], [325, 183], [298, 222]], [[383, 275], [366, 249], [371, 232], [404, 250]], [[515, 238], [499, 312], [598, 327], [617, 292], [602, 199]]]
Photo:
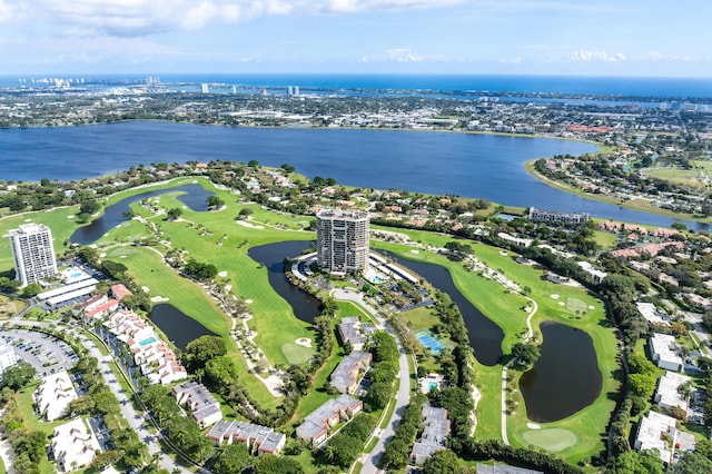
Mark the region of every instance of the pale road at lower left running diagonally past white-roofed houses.
[[[47, 325], [44, 323], [16, 320], [16, 319], [13, 319], [13, 323], [22, 326], [46, 326]], [[121, 408], [121, 414], [128, 422], [129, 426], [138, 434], [139, 440], [141, 440], [141, 442], [144, 442], [144, 444], [148, 446], [149, 454], [154, 455], [155, 453], [161, 453], [158, 463], [162, 468], [168, 470], [169, 472], [190, 473], [190, 471], [188, 471], [186, 467], [181, 466], [176, 461], [168, 457], [162, 452], [161, 446], [158, 443], [157, 435], [148, 431], [147, 424], [145, 423], [144, 414], [137, 412], [136, 408], [134, 408], [134, 405], [131, 404], [131, 401], [130, 401], [130, 395], [127, 394], [123, 388], [121, 388], [121, 385], [119, 384], [119, 381], [117, 381], [113, 371], [111, 371], [111, 366], [109, 365], [109, 363], [112, 362], [112, 357], [101, 355], [101, 352], [99, 352], [99, 348], [93, 343], [93, 340], [89, 339], [85, 335], [76, 334], [73, 329], [67, 329], [66, 333], [77, 336], [81, 342], [81, 345], [83, 345], [89, 350], [89, 354], [97, 359], [98, 369], [101, 373], [101, 376], [103, 377], [105, 383], [111, 389], [111, 393], [116, 395], [116, 398], [119, 402], [119, 406]], [[205, 472], [207, 473], [208, 471], [205, 471]]]

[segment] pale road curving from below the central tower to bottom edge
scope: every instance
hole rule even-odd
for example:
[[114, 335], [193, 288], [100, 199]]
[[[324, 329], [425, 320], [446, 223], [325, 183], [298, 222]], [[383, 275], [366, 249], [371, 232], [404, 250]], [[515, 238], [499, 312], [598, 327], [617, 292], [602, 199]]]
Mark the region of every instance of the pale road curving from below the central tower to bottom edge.
[[378, 460], [380, 460], [380, 456], [383, 456], [386, 443], [393, 438], [395, 429], [400, 424], [400, 419], [403, 418], [405, 407], [411, 402], [411, 371], [408, 368], [408, 355], [403, 347], [400, 338], [396, 334], [395, 329], [390, 327], [386, 319], [380, 316], [378, 312], [376, 312], [376, 309], [364, 302], [364, 298], [359, 293], [352, 292], [349, 289], [336, 289], [334, 290], [332, 296], [334, 296], [334, 298], [336, 299], [354, 302], [366, 309], [374, 317], [374, 319], [378, 322], [376, 327], [378, 329], [387, 330], [396, 339], [396, 344], [398, 345], [398, 352], [400, 355], [398, 356], [398, 392], [396, 393], [396, 406], [393, 411], [390, 419], [388, 421], [388, 425], [383, 431], [376, 428], [375, 433], [377, 434], [378, 442], [368, 454], [368, 456], [363, 461], [364, 466], [360, 470], [363, 474], [378, 473], [382, 472], [377, 467]]

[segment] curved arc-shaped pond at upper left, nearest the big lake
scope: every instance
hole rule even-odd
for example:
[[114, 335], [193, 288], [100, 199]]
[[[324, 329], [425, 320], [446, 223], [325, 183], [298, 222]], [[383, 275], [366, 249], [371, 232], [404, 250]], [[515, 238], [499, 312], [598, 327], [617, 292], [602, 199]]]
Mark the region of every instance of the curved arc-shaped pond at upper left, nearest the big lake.
[[208, 210], [208, 197], [215, 195], [215, 192], [207, 191], [202, 188], [202, 186], [197, 184], [141, 192], [140, 195], [121, 199], [120, 201], [108, 206], [98, 219], [93, 220], [87, 226], [79, 227], [77, 230], [75, 230], [69, 240], [72, 244], [91, 245], [95, 241], [99, 240], [106, 233], [123, 223], [125, 220], [128, 220], [123, 215], [127, 210], [129, 210], [130, 205], [146, 198], [160, 196], [168, 192], [185, 192], [178, 196], [178, 200], [195, 211]]

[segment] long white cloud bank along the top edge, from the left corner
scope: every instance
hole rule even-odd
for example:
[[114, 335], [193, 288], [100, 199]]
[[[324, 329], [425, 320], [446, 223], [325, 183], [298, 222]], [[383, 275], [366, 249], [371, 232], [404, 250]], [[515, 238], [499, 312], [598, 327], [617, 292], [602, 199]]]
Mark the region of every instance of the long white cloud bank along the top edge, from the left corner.
[[465, 0], [0, 0], [0, 23], [142, 36], [284, 14], [434, 9]]

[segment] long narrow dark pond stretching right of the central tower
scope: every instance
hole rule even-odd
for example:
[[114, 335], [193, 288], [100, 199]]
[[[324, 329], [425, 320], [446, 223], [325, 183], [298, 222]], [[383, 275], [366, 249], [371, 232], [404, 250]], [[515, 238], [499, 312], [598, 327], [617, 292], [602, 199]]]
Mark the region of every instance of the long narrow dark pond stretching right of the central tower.
[[463, 314], [469, 336], [469, 345], [481, 364], [493, 366], [500, 362], [504, 332], [492, 319], [483, 315], [482, 312], [469, 303], [469, 299], [459, 292], [447, 268], [441, 265], [400, 258], [389, 251], [386, 254], [388, 257], [398, 261], [399, 265], [411, 268], [435, 288], [446, 293], [451, 297]]

